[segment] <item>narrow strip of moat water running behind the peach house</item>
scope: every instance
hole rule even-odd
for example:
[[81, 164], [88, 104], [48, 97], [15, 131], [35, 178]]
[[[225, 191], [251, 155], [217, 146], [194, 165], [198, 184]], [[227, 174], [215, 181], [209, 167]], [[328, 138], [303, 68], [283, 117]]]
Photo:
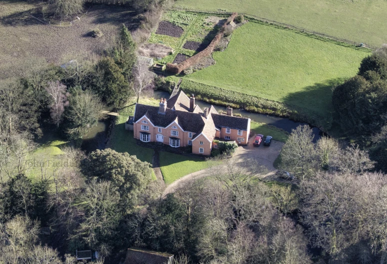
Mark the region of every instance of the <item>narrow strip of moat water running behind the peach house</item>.
[[[164, 91], [154, 91], [153, 97], [155, 99], [160, 99], [162, 98], [169, 98], [169, 93], [164, 92]], [[200, 101], [200, 100], [195, 100], [195, 104], [197, 104], [201, 109], [204, 107], [209, 107], [211, 104]], [[215, 107], [217, 112], [223, 111], [226, 112], [226, 107], [222, 105], [213, 105]], [[294, 122], [290, 120], [289, 118], [285, 117], [278, 117], [278, 116], [272, 116], [272, 115], [266, 115], [266, 114], [258, 114], [258, 113], [251, 113], [248, 112], [244, 109], [232, 109], [233, 114], [240, 114], [243, 117], [248, 117], [252, 121], [258, 122], [258, 123], [265, 123], [268, 125], [275, 126], [277, 128], [283, 129], [286, 132], [291, 133], [292, 129], [296, 129], [297, 126], [299, 125], [307, 125], [307, 123], [302, 123], [302, 122]], [[312, 127], [313, 134], [314, 134], [314, 139], [313, 141], [317, 141], [321, 136], [322, 132], [316, 128]]]

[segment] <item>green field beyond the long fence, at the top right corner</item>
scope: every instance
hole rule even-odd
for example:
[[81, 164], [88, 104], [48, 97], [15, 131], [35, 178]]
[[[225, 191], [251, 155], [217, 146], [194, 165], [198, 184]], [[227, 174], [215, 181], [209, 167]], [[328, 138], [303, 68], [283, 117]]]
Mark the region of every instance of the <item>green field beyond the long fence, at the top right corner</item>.
[[356, 42], [387, 42], [385, 0], [176, 0], [175, 7], [244, 12]]

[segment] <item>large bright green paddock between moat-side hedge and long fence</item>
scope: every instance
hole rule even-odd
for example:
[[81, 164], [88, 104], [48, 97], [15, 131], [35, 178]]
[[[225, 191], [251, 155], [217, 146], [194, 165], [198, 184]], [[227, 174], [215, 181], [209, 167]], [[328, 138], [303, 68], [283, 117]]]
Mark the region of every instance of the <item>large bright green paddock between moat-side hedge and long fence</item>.
[[356, 74], [369, 53], [257, 22], [234, 30], [216, 64], [185, 76], [330, 118], [331, 87]]

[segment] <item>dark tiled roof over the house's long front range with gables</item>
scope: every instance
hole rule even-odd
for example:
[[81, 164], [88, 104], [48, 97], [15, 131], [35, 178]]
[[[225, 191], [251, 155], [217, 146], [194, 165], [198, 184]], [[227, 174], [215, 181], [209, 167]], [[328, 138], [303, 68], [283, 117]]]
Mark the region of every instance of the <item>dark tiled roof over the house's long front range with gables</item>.
[[157, 106], [150, 106], [144, 104], [136, 104], [134, 122], [137, 122], [142, 116], [146, 114], [150, 122], [155, 126], [166, 127], [177, 118], [177, 123], [185, 131], [194, 133], [201, 132], [204, 127], [204, 122], [201, 118], [201, 114], [185, 112], [185, 111], [173, 111], [166, 109], [165, 114], [158, 113]]

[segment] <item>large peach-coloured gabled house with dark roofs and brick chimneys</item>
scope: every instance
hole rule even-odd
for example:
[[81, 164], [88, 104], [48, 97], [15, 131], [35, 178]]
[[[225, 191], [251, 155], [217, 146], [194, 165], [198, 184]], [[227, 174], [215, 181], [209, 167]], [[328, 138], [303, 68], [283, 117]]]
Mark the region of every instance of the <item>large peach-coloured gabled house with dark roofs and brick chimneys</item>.
[[219, 114], [211, 105], [200, 109], [195, 98], [182, 91], [168, 100], [160, 99], [159, 106], [136, 104], [133, 119], [134, 138], [142, 142], [161, 142], [171, 147], [192, 146], [193, 154], [210, 155], [213, 142], [233, 140], [247, 145], [250, 119]]

